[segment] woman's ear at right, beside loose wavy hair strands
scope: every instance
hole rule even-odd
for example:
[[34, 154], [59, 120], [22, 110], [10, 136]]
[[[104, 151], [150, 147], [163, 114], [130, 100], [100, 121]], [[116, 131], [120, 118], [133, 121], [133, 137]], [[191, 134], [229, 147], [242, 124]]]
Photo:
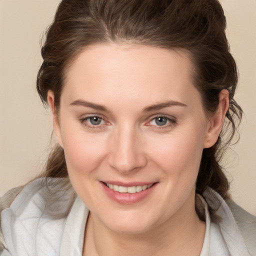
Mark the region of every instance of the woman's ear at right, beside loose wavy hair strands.
[[225, 114], [228, 106], [228, 91], [223, 89], [218, 94], [217, 110], [209, 117], [209, 125], [206, 130], [203, 148], [211, 147], [216, 143], [225, 120]]

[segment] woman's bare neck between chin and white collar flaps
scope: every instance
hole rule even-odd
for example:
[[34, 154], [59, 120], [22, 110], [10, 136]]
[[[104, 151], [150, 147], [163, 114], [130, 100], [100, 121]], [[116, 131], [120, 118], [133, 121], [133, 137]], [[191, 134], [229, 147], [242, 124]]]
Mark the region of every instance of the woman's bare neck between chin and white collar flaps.
[[116, 233], [90, 213], [83, 255], [199, 255], [205, 223], [199, 220], [194, 201], [182, 207], [164, 223], [136, 234]]

